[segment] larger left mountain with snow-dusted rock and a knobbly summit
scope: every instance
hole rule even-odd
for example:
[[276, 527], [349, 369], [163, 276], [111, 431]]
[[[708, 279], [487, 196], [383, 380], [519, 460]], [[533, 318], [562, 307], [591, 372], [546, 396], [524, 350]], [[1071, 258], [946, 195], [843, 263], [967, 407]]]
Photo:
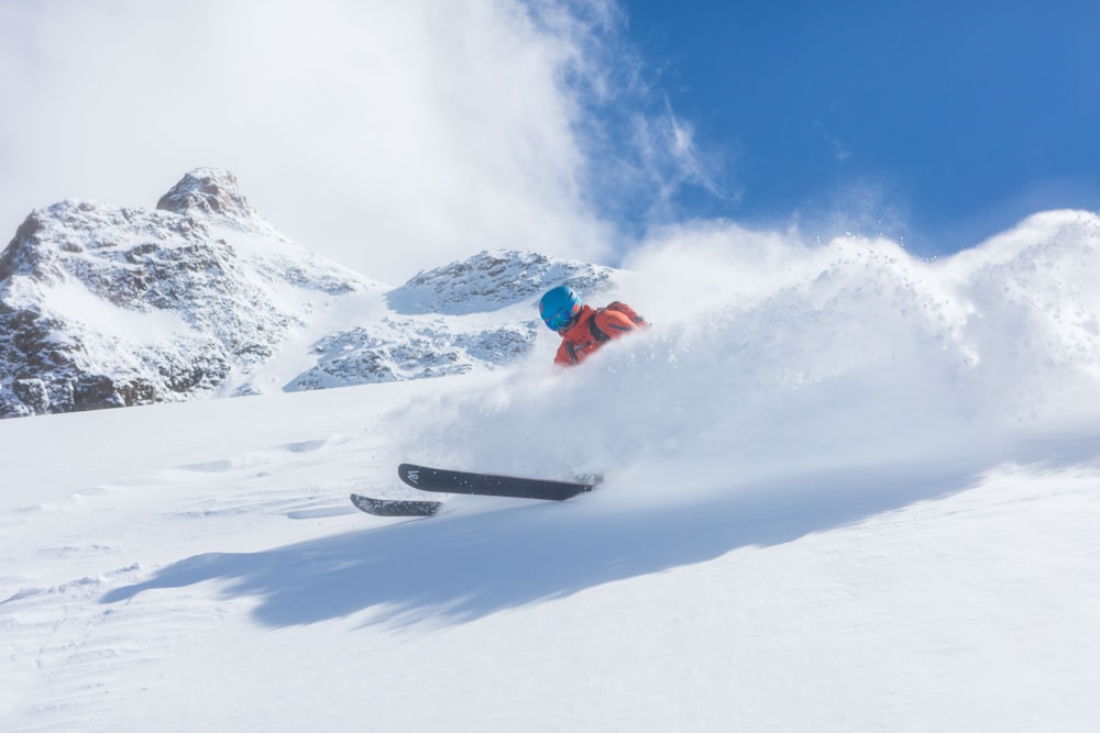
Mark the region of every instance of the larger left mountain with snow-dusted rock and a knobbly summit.
[[199, 169], [162, 210], [63, 201], [0, 256], [0, 417], [174, 401], [270, 358], [336, 295], [382, 289]]

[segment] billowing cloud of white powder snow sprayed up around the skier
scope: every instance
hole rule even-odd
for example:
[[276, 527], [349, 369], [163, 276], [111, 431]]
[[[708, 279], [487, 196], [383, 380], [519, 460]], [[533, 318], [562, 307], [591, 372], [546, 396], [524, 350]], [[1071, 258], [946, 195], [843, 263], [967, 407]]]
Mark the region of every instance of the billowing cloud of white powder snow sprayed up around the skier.
[[1019, 455], [1033, 434], [1100, 413], [1098, 263], [1100, 218], [1084, 212], [1040, 214], [932, 263], [887, 240], [670, 230], [618, 293], [648, 332], [560, 374], [546, 332], [540, 362], [510, 381], [420, 406], [433, 417], [414, 421], [405, 451], [559, 476], [652, 477], [688, 460], [722, 486], [729, 470]]

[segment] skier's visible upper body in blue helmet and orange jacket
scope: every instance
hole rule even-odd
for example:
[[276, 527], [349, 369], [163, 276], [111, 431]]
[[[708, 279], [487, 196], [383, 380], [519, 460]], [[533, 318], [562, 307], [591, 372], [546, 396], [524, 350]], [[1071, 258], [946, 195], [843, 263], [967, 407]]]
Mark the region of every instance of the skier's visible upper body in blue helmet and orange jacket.
[[649, 325], [626, 303], [615, 301], [606, 308], [595, 309], [581, 302], [580, 297], [565, 286], [551, 288], [539, 301], [539, 315], [561, 335], [561, 346], [554, 364], [580, 364], [612, 338], [618, 338], [639, 327]]

